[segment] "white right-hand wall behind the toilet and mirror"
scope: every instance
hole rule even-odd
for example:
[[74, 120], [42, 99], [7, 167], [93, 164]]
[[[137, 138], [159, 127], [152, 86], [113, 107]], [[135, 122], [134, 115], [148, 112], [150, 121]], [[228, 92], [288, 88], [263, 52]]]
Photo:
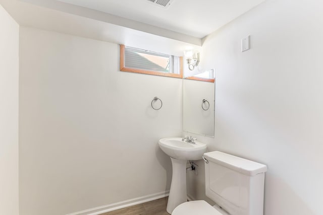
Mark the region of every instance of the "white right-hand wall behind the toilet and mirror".
[[[215, 138], [198, 138], [268, 166], [266, 215], [323, 214], [322, 10], [321, 1], [267, 0], [204, 39], [216, 125]], [[241, 52], [247, 35], [251, 49]], [[205, 198], [203, 174], [188, 181], [188, 194]]]

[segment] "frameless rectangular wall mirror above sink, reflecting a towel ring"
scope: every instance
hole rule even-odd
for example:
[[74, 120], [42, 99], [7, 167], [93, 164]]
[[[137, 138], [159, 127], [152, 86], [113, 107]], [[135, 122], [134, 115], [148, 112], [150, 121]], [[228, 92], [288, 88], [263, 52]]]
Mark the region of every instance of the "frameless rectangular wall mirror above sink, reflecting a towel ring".
[[183, 130], [214, 137], [214, 69], [183, 79]]

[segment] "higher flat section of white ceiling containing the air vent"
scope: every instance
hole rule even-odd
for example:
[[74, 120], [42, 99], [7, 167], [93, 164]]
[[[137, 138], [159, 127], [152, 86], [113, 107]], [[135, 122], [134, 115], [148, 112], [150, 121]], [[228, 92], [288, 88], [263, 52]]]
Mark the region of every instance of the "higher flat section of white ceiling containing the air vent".
[[203, 38], [264, 0], [174, 0], [168, 9], [148, 0], [58, 1]]

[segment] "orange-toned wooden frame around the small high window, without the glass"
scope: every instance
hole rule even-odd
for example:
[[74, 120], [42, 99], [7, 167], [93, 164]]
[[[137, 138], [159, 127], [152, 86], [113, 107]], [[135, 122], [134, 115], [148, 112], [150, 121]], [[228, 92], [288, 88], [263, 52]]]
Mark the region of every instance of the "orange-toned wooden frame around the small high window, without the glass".
[[129, 68], [125, 67], [125, 45], [120, 45], [120, 71], [183, 79], [183, 57], [180, 57], [180, 74], [163, 73], [161, 71], [151, 71], [138, 68]]

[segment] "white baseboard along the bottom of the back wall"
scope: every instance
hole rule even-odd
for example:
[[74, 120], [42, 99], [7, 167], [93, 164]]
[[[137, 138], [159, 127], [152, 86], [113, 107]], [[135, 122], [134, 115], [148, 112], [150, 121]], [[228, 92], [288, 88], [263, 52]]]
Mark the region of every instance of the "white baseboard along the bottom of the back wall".
[[151, 194], [151, 195], [145, 195], [145, 196], [141, 196], [138, 198], [132, 198], [132, 199], [128, 199], [125, 201], [119, 201], [119, 202], [112, 203], [112, 204], [107, 204], [107, 205], [103, 205], [103, 206], [99, 206], [99, 207], [94, 207], [91, 209], [86, 209], [86, 210], [82, 210], [82, 211], [78, 211], [78, 212], [74, 212], [74, 213], [69, 213], [66, 215], [98, 215], [101, 213], [133, 206], [136, 204], [141, 204], [141, 203], [144, 203], [147, 201], [152, 201], [152, 200], [155, 200], [158, 198], [164, 198], [164, 197], [168, 196], [169, 193], [170, 193], [170, 191], [168, 190], [165, 192], [155, 193], [155, 194]]

